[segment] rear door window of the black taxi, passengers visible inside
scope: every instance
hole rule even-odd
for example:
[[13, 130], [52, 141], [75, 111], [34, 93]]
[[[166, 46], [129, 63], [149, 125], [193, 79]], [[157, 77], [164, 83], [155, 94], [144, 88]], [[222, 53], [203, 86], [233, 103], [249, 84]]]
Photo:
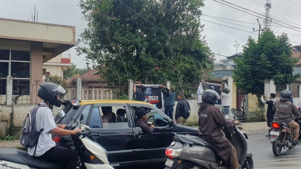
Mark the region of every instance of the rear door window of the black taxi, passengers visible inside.
[[[95, 105], [101, 114], [102, 128], [128, 128], [129, 122], [125, 104], [99, 104]], [[91, 117], [92, 120], [92, 117]]]

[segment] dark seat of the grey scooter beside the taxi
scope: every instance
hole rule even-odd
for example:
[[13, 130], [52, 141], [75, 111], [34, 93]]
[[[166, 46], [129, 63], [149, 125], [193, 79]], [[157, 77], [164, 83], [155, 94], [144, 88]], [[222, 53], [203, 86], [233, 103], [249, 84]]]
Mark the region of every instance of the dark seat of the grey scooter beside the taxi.
[[[206, 147], [212, 149], [213, 151], [216, 151], [214, 145], [212, 143], [210, 143], [208, 140], [206, 140], [202, 137], [191, 136], [191, 135], [182, 135], [182, 134], [179, 134], [178, 136], [180, 136], [181, 139], [183, 139], [185, 141], [189, 141], [189, 142], [194, 143], [196, 145], [206, 146]], [[174, 141], [181, 142], [178, 139], [178, 137], [176, 137], [176, 136], [173, 139], [174, 139]]]

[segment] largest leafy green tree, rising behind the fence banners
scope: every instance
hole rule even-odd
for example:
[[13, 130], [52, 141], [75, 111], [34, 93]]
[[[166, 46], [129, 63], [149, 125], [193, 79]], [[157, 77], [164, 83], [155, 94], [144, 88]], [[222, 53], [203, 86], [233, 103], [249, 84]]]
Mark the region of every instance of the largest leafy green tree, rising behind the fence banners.
[[203, 0], [80, 0], [88, 26], [78, 43], [88, 48], [77, 52], [109, 81], [198, 81], [213, 63], [201, 36], [203, 6]]

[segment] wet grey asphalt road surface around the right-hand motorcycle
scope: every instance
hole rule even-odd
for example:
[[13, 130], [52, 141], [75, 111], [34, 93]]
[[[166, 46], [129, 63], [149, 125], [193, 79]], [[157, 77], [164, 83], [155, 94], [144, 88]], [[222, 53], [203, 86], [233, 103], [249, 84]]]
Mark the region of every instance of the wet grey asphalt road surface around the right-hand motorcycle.
[[[272, 151], [272, 144], [265, 137], [267, 130], [252, 131], [247, 140], [248, 149], [253, 154], [254, 168], [256, 169], [291, 169], [301, 168], [301, 144], [293, 149], [282, 149], [279, 156]], [[301, 143], [301, 140], [299, 140]]]

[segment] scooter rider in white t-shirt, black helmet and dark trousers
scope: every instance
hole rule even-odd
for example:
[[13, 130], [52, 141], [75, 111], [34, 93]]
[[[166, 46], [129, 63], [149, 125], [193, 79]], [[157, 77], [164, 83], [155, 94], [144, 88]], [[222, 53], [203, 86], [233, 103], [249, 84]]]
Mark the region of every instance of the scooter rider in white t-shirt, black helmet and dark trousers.
[[[76, 132], [80, 132], [80, 129], [73, 131], [65, 130], [66, 125], [55, 124], [52, 114], [53, 106], [61, 107], [62, 102], [59, 96], [66, 93], [63, 87], [58, 84], [46, 82], [40, 85], [38, 91], [38, 97], [43, 99], [42, 103], [47, 107], [39, 107], [36, 113], [36, 129], [40, 131], [44, 129], [39, 136], [39, 140], [36, 146], [35, 158], [39, 158], [44, 161], [60, 162], [60, 168], [74, 169], [78, 162], [78, 153], [70, 148], [64, 146], [58, 146], [52, 141], [51, 134], [57, 135], [75, 135]], [[35, 147], [28, 148], [28, 154], [33, 156]]]

